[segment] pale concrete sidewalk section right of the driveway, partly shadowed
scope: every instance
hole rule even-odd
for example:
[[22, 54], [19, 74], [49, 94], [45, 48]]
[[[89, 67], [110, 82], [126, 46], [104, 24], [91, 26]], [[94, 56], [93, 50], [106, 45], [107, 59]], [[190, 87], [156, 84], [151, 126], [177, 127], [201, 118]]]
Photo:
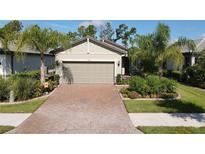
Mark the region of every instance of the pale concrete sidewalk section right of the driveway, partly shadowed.
[[205, 113], [129, 113], [134, 126], [205, 126]]

